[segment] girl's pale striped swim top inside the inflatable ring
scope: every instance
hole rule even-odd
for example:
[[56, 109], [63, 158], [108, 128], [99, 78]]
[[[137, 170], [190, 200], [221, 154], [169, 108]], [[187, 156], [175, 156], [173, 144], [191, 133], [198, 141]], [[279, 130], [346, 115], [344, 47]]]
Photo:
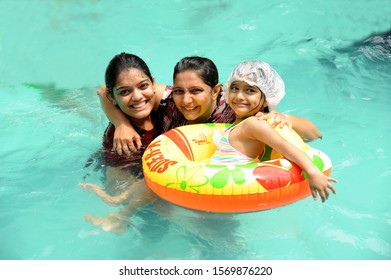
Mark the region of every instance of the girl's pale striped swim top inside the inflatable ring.
[[231, 131], [243, 124], [246, 120], [241, 121], [235, 126], [227, 128], [220, 139], [220, 143], [216, 143], [217, 149], [210, 158], [210, 164], [248, 164], [253, 162], [259, 162], [258, 157], [248, 157], [229, 144], [229, 134]]

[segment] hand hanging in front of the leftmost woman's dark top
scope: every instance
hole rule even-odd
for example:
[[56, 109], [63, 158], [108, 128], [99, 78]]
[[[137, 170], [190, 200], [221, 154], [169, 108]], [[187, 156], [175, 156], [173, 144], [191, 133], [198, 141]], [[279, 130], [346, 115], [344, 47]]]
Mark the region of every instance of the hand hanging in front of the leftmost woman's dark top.
[[136, 152], [141, 146], [141, 137], [130, 124], [122, 123], [115, 127], [112, 151], [130, 156], [131, 152]]

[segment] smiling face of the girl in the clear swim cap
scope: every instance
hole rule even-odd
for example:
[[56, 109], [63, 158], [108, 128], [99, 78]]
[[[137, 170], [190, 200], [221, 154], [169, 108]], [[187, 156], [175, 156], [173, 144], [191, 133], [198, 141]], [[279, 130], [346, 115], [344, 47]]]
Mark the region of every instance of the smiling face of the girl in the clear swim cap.
[[267, 106], [262, 91], [242, 81], [234, 81], [231, 84], [227, 101], [236, 116], [240, 118], [255, 115]]

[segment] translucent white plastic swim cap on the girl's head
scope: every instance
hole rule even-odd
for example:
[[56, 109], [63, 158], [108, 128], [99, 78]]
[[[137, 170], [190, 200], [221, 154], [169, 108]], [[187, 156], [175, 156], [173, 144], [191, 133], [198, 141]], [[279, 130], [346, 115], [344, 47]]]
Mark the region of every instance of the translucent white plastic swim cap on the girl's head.
[[263, 61], [249, 60], [239, 63], [224, 85], [225, 94], [228, 94], [231, 84], [235, 81], [258, 87], [265, 95], [270, 111], [275, 110], [285, 96], [284, 81], [269, 64]]

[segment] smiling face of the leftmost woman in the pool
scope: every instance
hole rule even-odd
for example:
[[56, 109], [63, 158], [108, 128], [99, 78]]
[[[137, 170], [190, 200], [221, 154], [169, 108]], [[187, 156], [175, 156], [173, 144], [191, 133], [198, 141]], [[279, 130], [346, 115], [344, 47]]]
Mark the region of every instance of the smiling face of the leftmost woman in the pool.
[[113, 88], [114, 100], [133, 119], [149, 117], [155, 104], [154, 83], [136, 68], [123, 70]]

